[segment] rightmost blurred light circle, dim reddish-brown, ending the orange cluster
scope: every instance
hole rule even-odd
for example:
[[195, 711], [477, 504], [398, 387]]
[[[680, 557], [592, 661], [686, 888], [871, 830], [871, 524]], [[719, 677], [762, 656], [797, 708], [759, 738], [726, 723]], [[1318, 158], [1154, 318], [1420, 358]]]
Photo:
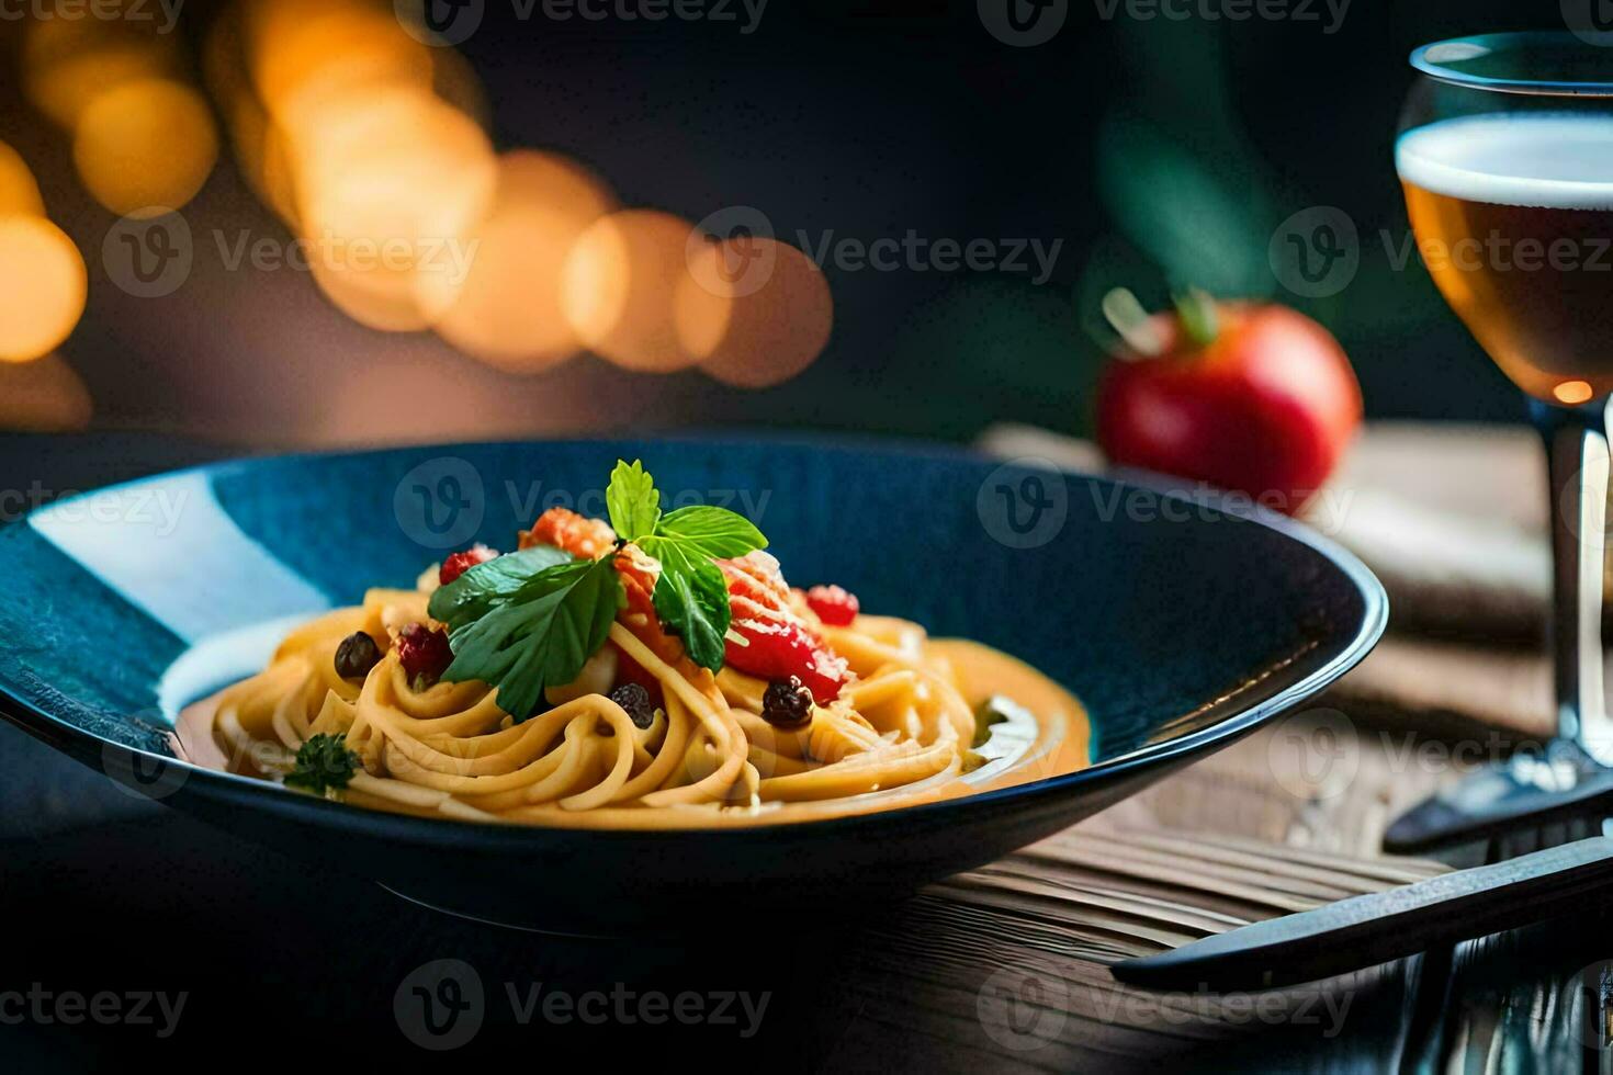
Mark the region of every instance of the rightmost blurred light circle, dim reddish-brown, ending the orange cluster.
[[[758, 266], [765, 276], [748, 276]], [[742, 388], [776, 385], [811, 366], [832, 327], [834, 298], [823, 271], [774, 239], [706, 245], [689, 259], [677, 290], [684, 350], [700, 369]]]

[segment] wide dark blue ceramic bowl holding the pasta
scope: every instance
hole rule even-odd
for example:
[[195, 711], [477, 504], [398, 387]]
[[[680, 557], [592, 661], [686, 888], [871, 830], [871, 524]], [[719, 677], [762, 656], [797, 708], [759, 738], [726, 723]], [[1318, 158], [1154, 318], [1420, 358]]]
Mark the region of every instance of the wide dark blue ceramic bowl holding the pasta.
[[[348, 807], [176, 761], [174, 714], [258, 670], [289, 624], [411, 585], [444, 550], [561, 503], [615, 459], [673, 503], [750, 514], [797, 583], [1013, 653], [1092, 714], [1092, 766], [836, 820], [689, 832], [474, 825]], [[989, 862], [1315, 695], [1384, 629], [1376, 579], [1258, 509], [937, 448], [798, 440], [495, 443], [224, 463], [58, 501], [0, 530], [5, 716], [247, 840], [473, 917], [673, 928], [711, 901], [855, 909]]]

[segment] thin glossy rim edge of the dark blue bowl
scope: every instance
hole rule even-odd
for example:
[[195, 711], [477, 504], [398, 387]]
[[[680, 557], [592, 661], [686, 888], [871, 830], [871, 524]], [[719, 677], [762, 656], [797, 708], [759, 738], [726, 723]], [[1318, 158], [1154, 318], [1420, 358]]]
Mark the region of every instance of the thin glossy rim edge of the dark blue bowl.
[[[1023, 459], [1034, 459], [1034, 456], [1019, 456], [1018, 459], [1005, 459], [1000, 454], [986, 453], [969, 446], [958, 445], [942, 445], [936, 442], [926, 442], [921, 438], [903, 438], [903, 437], [877, 437], [877, 435], [823, 435], [823, 434], [803, 434], [803, 432], [734, 432], [734, 430], [679, 430], [679, 432], [652, 432], [637, 437], [566, 437], [566, 438], [531, 438], [531, 440], [460, 440], [460, 442], [423, 442], [423, 443], [400, 443], [387, 446], [371, 446], [358, 450], [331, 450], [331, 451], [298, 451], [298, 453], [268, 453], [258, 456], [227, 456], [211, 463], [202, 463], [189, 467], [177, 467], [171, 471], [160, 471], [137, 479], [129, 479], [123, 482], [115, 482], [102, 487], [95, 487], [84, 492], [76, 492], [73, 496], [65, 496], [55, 500], [40, 508], [34, 508], [21, 517], [0, 525], [0, 540], [3, 540], [13, 529], [26, 529], [29, 521], [42, 513], [48, 513], [63, 504], [71, 504], [77, 500], [103, 495], [115, 490], [132, 488], [148, 482], [173, 480], [184, 475], [195, 474], [223, 474], [237, 471], [240, 467], [263, 466], [263, 464], [295, 464], [318, 459], [334, 459], [334, 458], [350, 458], [361, 459], [366, 456], [384, 456], [405, 451], [434, 451], [434, 453], [452, 453], [458, 450], [487, 450], [487, 448], [505, 448], [505, 450], [521, 450], [521, 448], [587, 448], [587, 446], [606, 446], [606, 445], [624, 445], [624, 443], [666, 443], [666, 445], [703, 445], [718, 446], [723, 443], [734, 445], [777, 445], [777, 446], [797, 446], [811, 448], [816, 451], [836, 451], [836, 453], [879, 453], [892, 458], [929, 458], [950, 463], [965, 463], [973, 466], [981, 464], [1003, 464]], [[1040, 459], [1040, 463], [1048, 463]], [[1050, 464], [1052, 466], [1052, 464]], [[779, 838], [779, 836], [795, 836], [808, 835], [808, 838], [848, 835], [853, 830], [879, 825], [879, 824], [900, 824], [900, 820], [913, 820], [915, 824], [923, 819], [924, 822], [942, 820], [947, 817], [963, 817], [965, 814], [989, 814], [990, 807], [1005, 804], [1008, 801], [1026, 799], [1032, 803], [1057, 799], [1066, 793], [1076, 791], [1084, 787], [1102, 787], [1105, 783], [1126, 778], [1140, 769], [1165, 769], [1171, 761], [1184, 761], [1189, 756], [1207, 753], [1211, 748], [1227, 746], [1244, 735], [1253, 732], [1261, 724], [1266, 724], [1276, 716], [1281, 716], [1287, 709], [1294, 708], [1300, 701], [1318, 695], [1323, 688], [1334, 683], [1339, 677], [1348, 672], [1352, 667], [1360, 664], [1368, 653], [1382, 638], [1384, 630], [1389, 624], [1389, 595], [1386, 593], [1382, 583], [1378, 577], [1366, 567], [1365, 562], [1355, 553], [1350, 553], [1342, 545], [1332, 538], [1319, 533], [1313, 527], [1284, 516], [1277, 511], [1265, 508], [1255, 503], [1252, 498], [1242, 495], [1229, 495], [1210, 488], [1195, 488], [1192, 492], [1181, 488], [1179, 479], [1169, 479], [1165, 475], [1126, 471], [1121, 474], [1092, 474], [1087, 471], [1073, 471], [1068, 467], [1053, 466], [1061, 477], [1066, 480], [1087, 480], [1087, 482], [1105, 482], [1118, 488], [1140, 488], [1152, 492], [1163, 498], [1171, 498], [1184, 501], [1189, 504], [1208, 508], [1218, 514], [1227, 516], [1240, 524], [1260, 525], [1268, 530], [1297, 542], [1318, 553], [1332, 567], [1342, 572], [1344, 579], [1357, 590], [1361, 600], [1361, 621], [1355, 632], [1344, 641], [1339, 651], [1323, 662], [1319, 667], [1311, 669], [1305, 675], [1289, 682], [1279, 690], [1273, 691], [1265, 698], [1258, 698], [1247, 706], [1234, 708], [1224, 717], [1215, 720], [1213, 724], [1189, 732], [1186, 735], [1173, 737], [1169, 740], [1157, 743], [1144, 743], [1132, 751], [1110, 757], [1100, 762], [1094, 762], [1084, 769], [1074, 772], [1055, 774], [1050, 777], [1042, 777], [1039, 780], [1031, 780], [1026, 783], [1010, 785], [1005, 788], [995, 788], [990, 791], [977, 791], [973, 795], [963, 795], [957, 798], [936, 799], [929, 803], [915, 803], [910, 806], [892, 806], [886, 809], [865, 811], [858, 814], [845, 814], [839, 817], [824, 817], [811, 820], [777, 820], [777, 822], [756, 822], [747, 825], [729, 825], [729, 827], [676, 827], [676, 828], [582, 828], [582, 827], [566, 827], [566, 825], [531, 825], [531, 824], [497, 824], [497, 822], [474, 822], [460, 820], [452, 817], [423, 817], [413, 814], [395, 814], [390, 811], [374, 811], [365, 807], [348, 806], [345, 803], [334, 803], [324, 798], [298, 795], [294, 791], [286, 791], [266, 780], [256, 780], [253, 777], [245, 777], [232, 772], [219, 772], [216, 769], [208, 769], [190, 761], [184, 761], [169, 754], [156, 754], [147, 749], [139, 749], [126, 746], [123, 743], [103, 738], [89, 732], [76, 724], [71, 724], [47, 709], [19, 698], [11, 693], [10, 685], [0, 682], [0, 717], [10, 724], [23, 728], [24, 732], [34, 735], [35, 738], [48, 743], [50, 746], [69, 754], [81, 764], [90, 769], [100, 769], [116, 761], [119, 766], [135, 766], [144, 761], [147, 766], [168, 767], [174, 766], [184, 772], [184, 780], [181, 785], [182, 795], [177, 796], [148, 796], [153, 801], [166, 803], [168, 798], [190, 798], [192, 795], [202, 795], [213, 799], [226, 799], [232, 804], [247, 804], [253, 807], [268, 807], [266, 812], [277, 816], [305, 816], [308, 819], [318, 819], [326, 827], [345, 828], [345, 830], [361, 830], [366, 835], [376, 835], [382, 838], [405, 840], [410, 843], [429, 843], [429, 845], [455, 845], [465, 848], [471, 841], [482, 843], [495, 849], [511, 849], [518, 846], [532, 848], [544, 841], [565, 840], [565, 838], [586, 838], [590, 841], [600, 840], [652, 840], [656, 843], [673, 841], [673, 840], [731, 840], [744, 841], [755, 838]], [[1079, 698], [1079, 693], [1077, 693]], [[97, 761], [100, 764], [97, 764]], [[108, 778], [111, 778], [108, 775]], [[192, 783], [195, 782], [195, 787]]]

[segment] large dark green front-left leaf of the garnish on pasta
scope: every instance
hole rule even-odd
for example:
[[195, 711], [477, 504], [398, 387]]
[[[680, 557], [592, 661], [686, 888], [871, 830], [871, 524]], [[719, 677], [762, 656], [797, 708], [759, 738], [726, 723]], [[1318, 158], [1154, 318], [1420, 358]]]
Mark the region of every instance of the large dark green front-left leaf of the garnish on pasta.
[[442, 679], [497, 687], [498, 708], [524, 720], [545, 687], [569, 683], [582, 672], [624, 603], [611, 556], [548, 567], [448, 635], [453, 662]]

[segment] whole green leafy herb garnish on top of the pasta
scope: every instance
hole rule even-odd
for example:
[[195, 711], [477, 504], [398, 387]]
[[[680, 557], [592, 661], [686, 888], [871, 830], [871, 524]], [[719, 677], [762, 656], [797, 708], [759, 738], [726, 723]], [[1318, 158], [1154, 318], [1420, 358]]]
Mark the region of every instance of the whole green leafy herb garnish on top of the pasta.
[[[731, 611], [715, 561], [766, 548], [768, 538], [724, 508], [661, 514], [661, 493], [639, 461], [616, 463], [605, 504], [618, 542], [661, 564], [652, 593], [661, 625], [682, 638], [695, 664], [721, 669]], [[518, 720], [531, 716], [547, 687], [574, 680], [605, 645], [626, 604], [615, 559], [574, 559], [536, 545], [476, 564], [440, 587], [427, 611], [448, 625], [453, 662], [442, 679], [490, 683], [500, 709]]]

